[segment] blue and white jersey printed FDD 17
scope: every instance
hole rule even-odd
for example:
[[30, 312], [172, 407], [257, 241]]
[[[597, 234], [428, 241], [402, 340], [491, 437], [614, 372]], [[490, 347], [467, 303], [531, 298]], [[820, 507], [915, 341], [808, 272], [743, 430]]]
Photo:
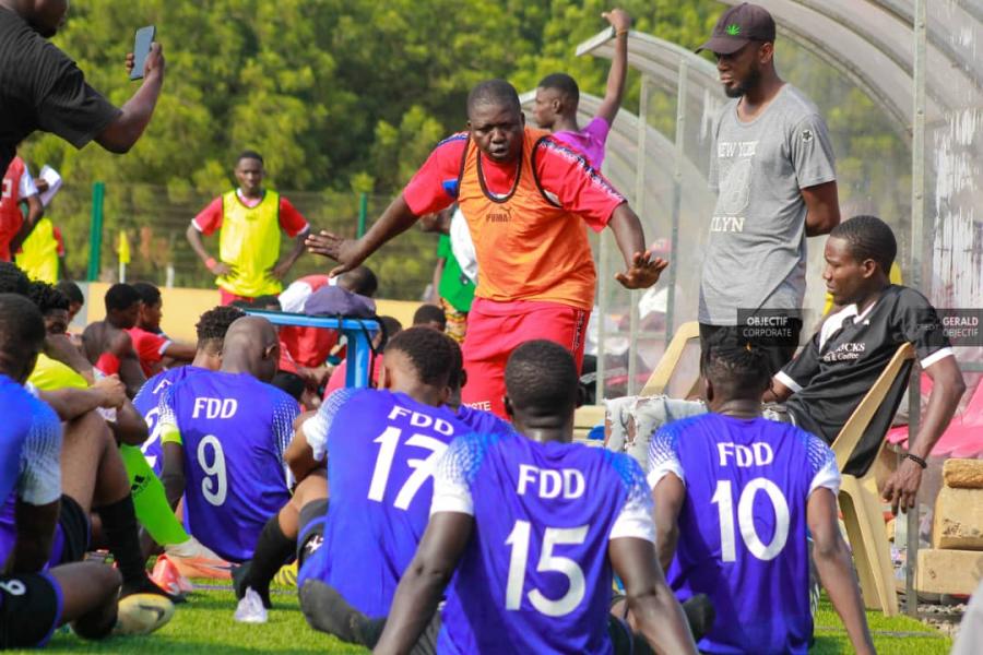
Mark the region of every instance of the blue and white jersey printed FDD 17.
[[327, 448], [331, 504], [323, 543], [305, 560], [298, 586], [321, 580], [365, 615], [387, 616], [427, 527], [437, 462], [465, 431], [448, 407], [402, 393], [331, 394], [304, 424], [315, 456]]

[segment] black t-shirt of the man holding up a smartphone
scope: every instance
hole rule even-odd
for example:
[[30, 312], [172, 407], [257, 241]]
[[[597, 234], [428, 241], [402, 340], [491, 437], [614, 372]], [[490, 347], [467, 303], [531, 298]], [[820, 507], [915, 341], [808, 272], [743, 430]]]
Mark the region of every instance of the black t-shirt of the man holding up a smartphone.
[[21, 16], [0, 9], [0, 175], [35, 130], [82, 147], [119, 112], [64, 52]]

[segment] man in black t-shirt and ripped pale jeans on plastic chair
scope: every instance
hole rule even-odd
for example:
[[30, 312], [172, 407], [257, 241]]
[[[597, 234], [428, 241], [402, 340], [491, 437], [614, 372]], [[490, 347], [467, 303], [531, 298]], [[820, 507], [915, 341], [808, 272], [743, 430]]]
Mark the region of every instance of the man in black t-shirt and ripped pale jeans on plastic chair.
[[[822, 277], [843, 309], [824, 321], [798, 356], [774, 376], [771, 391], [763, 396], [765, 402], [785, 403], [787, 413], [779, 413], [779, 417], [791, 417], [795, 425], [831, 444], [898, 347], [905, 342], [914, 344], [922, 370], [934, 384], [909, 454], [884, 489], [896, 513], [899, 504], [902, 510], [913, 507], [924, 460], [966, 390], [945, 334], [920, 327], [937, 323], [935, 308], [916, 290], [892, 285], [888, 278], [897, 251], [891, 228], [874, 216], [855, 216], [832, 229]], [[844, 473], [862, 475], [873, 463], [908, 376], [902, 374], [901, 380], [885, 400], [890, 410], [874, 417]], [[626, 449], [643, 461], [648, 441], [659, 427], [706, 410], [701, 403], [665, 396], [609, 401], [608, 448]], [[627, 436], [629, 422], [635, 427], [633, 438]]]

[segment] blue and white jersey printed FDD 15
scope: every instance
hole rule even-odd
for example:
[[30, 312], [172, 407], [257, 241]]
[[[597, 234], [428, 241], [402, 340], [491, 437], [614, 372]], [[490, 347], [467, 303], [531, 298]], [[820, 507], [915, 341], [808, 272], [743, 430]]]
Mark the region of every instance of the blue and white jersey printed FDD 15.
[[457, 439], [431, 513], [471, 514], [474, 532], [438, 652], [612, 653], [608, 541], [654, 543], [651, 509], [641, 467], [625, 454], [517, 432]]

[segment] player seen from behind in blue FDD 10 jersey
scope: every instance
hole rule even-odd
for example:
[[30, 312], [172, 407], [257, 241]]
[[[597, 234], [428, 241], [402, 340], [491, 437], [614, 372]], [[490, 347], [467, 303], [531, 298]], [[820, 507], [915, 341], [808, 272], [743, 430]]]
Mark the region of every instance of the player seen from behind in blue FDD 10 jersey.
[[857, 653], [874, 646], [837, 523], [840, 472], [818, 437], [762, 417], [768, 356], [708, 342], [709, 414], [662, 427], [649, 446], [659, 556], [679, 599], [708, 594], [703, 653], [806, 653], [809, 551]]

